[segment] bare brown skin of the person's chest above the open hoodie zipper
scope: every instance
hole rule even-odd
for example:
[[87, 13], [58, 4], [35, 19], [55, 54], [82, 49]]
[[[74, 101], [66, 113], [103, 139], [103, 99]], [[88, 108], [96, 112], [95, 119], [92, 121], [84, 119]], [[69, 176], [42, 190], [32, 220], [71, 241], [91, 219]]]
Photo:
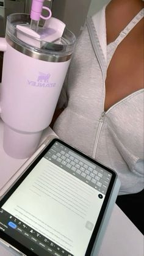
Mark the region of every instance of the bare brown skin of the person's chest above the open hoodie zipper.
[[[113, 42], [137, 13], [142, 0], [112, 0], [106, 7], [107, 45]], [[105, 111], [143, 88], [143, 19], [123, 39], [107, 70]]]

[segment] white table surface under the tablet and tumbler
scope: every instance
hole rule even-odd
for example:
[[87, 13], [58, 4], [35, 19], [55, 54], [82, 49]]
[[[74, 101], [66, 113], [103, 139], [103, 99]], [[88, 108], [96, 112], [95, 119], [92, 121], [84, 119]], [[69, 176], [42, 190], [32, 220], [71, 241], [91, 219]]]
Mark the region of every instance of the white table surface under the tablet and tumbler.
[[[45, 130], [43, 138], [49, 133]], [[0, 190], [26, 159], [6, 155], [2, 147], [3, 123], [0, 119]], [[0, 256], [16, 255], [0, 246]], [[143, 235], [115, 204], [104, 235], [99, 256], [143, 256]]]

